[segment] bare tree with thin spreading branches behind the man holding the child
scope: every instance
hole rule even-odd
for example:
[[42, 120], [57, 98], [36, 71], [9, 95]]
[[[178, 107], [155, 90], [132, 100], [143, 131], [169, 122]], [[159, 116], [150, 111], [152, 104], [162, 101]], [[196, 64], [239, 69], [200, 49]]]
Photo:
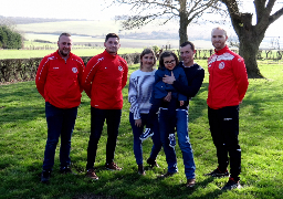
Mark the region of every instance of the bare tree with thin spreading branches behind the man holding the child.
[[179, 43], [188, 41], [187, 28], [206, 12], [221, 11], [220, 0], [112, 0], [112, 4], [132, 6], [133, 15], [123, 15], [124, 29], [140, 28], [156, 19], [179, 19]]

